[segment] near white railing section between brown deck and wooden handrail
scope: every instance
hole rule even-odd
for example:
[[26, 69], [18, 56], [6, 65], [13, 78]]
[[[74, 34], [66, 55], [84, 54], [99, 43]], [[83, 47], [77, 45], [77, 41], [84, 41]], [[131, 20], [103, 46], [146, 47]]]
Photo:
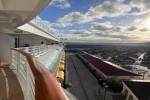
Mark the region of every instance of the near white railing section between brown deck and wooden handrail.
[[19, 80], [25, 100], [34, 100], [34, 75], [26, 57], [15, 50], [11, 50], [11, 69]]

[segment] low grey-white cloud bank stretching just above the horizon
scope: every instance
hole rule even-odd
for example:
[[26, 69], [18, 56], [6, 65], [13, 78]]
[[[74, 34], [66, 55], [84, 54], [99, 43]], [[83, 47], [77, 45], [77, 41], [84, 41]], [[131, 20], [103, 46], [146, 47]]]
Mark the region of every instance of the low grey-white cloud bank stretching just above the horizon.
[[[141, 28], [137, 26], [113, 26], [109, 22], [93, 23], [88, 30], [71, 30], [67, 38], [71, 40], [100, 40], [107, 42], [143, 42], [149, 40], [149, 34], [142, 34], [148, 32], [148, 28]], [[121, 40], [121, 41], [120, 41]]]

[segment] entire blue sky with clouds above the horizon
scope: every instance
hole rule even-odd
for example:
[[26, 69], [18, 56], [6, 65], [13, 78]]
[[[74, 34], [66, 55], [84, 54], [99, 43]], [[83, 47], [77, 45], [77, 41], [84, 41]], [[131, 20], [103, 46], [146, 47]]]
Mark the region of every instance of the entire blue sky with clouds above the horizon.
[[52, 0], [38, 17], [68, 42], [150, 41], [150, 0]]

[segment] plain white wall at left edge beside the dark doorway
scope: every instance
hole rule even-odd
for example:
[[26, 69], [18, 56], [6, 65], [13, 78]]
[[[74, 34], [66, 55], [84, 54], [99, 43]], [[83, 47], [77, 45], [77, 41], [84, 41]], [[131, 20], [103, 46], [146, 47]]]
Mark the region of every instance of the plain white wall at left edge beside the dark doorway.
[[0, 33], [0, 58], [1, 61], [10, 61], [10, 48], [13, 48], [15, 41], [6, 34]]

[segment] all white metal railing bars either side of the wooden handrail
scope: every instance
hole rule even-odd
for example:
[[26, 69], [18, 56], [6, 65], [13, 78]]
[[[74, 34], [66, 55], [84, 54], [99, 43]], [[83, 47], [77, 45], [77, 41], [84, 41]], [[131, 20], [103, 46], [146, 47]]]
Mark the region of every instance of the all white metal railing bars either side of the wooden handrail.
[[[59, 47], [60, 47], [59, 45], [42, 45], [42, 46], [32, 46], [32, 47], [21, 47], [21, 48], [17, 48], [17, 50], [22, 50], [35, 57], [38, 57], [39, 55], [47, 51]], [[25, 100], [34, 100], [35, 79], [33, 73], [31, 72], [29, 63], [23, 54], [13, 49], [11, 50], [11, 69], [16, 74], [20, 82]]]

